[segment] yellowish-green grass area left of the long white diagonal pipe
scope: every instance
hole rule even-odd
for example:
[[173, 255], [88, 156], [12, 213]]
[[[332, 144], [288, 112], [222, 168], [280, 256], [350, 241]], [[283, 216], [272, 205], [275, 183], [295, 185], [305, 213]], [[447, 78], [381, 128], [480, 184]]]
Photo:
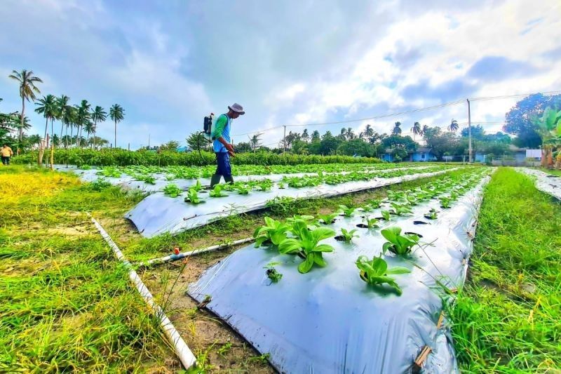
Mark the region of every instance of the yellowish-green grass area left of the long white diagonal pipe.
[[179, 368], [84, 213], [137, 196], [18, 166], [0, 168], [0, 196], [0, 372]]

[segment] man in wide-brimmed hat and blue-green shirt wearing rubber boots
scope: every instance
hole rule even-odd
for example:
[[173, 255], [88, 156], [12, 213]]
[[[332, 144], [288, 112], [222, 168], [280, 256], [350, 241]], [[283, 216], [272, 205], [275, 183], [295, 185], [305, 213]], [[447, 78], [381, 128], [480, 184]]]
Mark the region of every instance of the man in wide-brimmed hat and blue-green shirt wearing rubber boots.
[[234, 147], [231, 145], [230, 128], [232, 119], [238, 118], [245, 114], [243, 107], [239, 104], [228, 107], [228, 113], [221, 114], [212, 130], [212, 148], [216, 154], [216, 173], [210, 178], [210, 188], [220, 182], [220, 178], [224, 177], [227, 183], [234, 183], [232, 178], [232, 169], [230, 166], [230, 156], [235, 157]]

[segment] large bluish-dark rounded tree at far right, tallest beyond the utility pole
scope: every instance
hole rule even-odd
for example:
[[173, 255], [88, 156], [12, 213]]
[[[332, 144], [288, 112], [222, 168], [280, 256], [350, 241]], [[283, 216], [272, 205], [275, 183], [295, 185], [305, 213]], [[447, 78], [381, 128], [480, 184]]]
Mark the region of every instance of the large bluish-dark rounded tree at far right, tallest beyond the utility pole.
[[514, 142], [518, 147], [539, 147], [541, 138], [533, 119], [542, 116], [547, 107], [560, 109], [561, 95], [536, 93], [523, 98], [506, 113], [503, 131], [517, 135]]

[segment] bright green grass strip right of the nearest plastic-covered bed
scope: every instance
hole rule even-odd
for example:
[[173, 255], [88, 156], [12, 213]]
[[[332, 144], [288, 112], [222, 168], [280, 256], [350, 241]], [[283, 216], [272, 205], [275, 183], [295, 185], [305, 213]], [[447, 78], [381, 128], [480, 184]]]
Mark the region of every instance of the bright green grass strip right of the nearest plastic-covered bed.
[[561, 370], [561, 205], [499, 168], [466, 286], [449, 310], [462, 373]]

